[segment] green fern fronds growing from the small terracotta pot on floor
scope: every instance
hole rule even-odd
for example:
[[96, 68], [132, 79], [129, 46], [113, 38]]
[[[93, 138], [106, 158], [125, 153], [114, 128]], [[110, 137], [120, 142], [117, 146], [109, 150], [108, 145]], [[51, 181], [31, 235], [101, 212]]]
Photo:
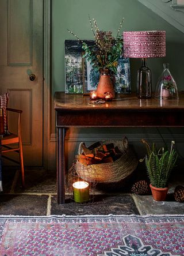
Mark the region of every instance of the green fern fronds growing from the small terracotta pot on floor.
[[[167, 187], [171, 170], [177, 161], [177, 152], [173, 148], [175, 142], [171, 141], [170, 150], [164, 148], [157, 150], [155, 143], [152, 144], [151, 148], [147, 141], [142, 140], [142, 142], [147, 149], [147, 155], [144, 159], [151, 185], [159, 188]], [[144, 159], [140, 159], [140, 161]]]

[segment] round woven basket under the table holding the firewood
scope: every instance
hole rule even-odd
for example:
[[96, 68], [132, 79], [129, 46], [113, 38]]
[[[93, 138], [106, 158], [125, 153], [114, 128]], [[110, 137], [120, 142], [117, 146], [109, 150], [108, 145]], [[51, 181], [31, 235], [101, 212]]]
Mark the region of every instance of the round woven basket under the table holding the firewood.
[[[133, 149], [128, 146], [128, 139], [100, 142], [101, 145], [108, 143], [113, 143], [114, 146], [118, 146], [118, 149], [122, 152], [120, 158], [113, 163], [91, 165], [81, 164], [76, 159], [75, 170], [79, 177], [89, 182], [114, 183], [120, 182], [132, 174], [137, 167], [138, 160]], [[82, 144], [83, 142], [79, 144], [79, 155], [82, 154]]]

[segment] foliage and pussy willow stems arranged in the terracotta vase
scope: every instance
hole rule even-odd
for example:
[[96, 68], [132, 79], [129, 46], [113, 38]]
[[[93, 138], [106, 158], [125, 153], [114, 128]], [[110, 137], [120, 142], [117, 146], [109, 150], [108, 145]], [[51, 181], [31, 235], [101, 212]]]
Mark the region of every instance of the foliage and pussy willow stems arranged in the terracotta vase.
[[100, 71], [101, 69], [108, 69], [113, 71], [114, 74], [117, 73], [118, 59], [122, 54], [123, 40], [120, 36], [120, 29], [122, 27], [122, 21], [120, 22], [120, 27], [117, 31], [116, 38], [112, 36], [110, 31], [99, 30], [97, 22], [93, 18], [93, 23], [89, 16], [91, 31], [93, 32], [95, 44], [94, 46], [88, 46], [85, 42], [79, 39], [72, 31], [68, 30], [72, 35], [74, 35], [79, 41], [82, 42], [82, 48], [85, 52], [83, 58], [87, 58], [92, 64], [95, 71]]

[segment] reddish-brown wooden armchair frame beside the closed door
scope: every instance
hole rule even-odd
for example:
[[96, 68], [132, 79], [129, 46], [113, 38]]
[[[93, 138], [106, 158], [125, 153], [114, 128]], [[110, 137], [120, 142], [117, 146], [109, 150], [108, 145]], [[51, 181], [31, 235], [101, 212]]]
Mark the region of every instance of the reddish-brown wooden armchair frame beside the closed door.
[[[18, 114], [18, 134], [7, 134], [4, 135], [1, 140], [1, 153], [2, 157], [7, 160], [13, 161], [14, 163], [20, 164], [21, 168], [21, 178], [22, 178], [22, 187], [24, 187], [24, 161], [23, 161], [23, 152], [22, 152], [22, 137], [21, 137], [21, 114], [22, 110], [16, 110], [14, 108], [6, 108], [6, 111], [16, 112]], [[11, 147], [11, 144], [16, 144], [16, 146]], [[16, 161], [4, 155], [7, 152], [17, 152], [19, 154], [20, 161]]]

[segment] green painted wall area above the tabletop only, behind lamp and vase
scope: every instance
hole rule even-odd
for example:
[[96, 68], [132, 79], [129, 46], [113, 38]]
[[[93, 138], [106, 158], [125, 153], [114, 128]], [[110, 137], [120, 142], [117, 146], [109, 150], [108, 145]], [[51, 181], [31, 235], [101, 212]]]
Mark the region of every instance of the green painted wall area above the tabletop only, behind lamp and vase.
[[[157, 16], [137, 0], [52, 0], [52, 95], [64, 91], [64, 40], [75, 39], [67, 28], [81, 39], [93, 39], [88, 14], [95, 18], [98, 27], [116, 35], [121, 18], [122, 30], [165, 30], [166, 58], [149, 59], [152, 70], [153, 89], [162, 73], [163, 62], [170, 63], [170, 71], [178, 88], [184, 90], [184, 35]], [[184, 14], [183, 14], [184, 16]], [[132, 91], [136, 90], [136, 71], [140, 59], [131, 59]]]

